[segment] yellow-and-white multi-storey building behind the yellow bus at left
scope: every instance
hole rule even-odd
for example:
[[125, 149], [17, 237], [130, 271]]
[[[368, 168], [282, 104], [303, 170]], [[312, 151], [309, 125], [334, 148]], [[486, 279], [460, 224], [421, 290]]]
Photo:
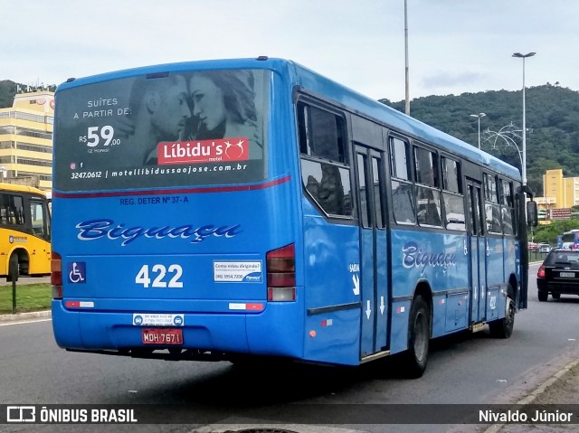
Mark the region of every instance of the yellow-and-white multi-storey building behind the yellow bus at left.
[[54, 93], [17, 93], [12, 108], [0, 108], [0, 182], [52, 190]]

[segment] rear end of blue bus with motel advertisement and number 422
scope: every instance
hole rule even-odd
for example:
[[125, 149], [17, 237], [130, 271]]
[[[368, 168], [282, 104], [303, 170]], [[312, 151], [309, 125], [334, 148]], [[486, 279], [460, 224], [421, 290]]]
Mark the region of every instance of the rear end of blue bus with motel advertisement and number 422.
[[299, 183], [291, 135], [265, 127], [272, 74], [207, 68], [58, 89], [52, 311], [62, 347], [303, 357]]

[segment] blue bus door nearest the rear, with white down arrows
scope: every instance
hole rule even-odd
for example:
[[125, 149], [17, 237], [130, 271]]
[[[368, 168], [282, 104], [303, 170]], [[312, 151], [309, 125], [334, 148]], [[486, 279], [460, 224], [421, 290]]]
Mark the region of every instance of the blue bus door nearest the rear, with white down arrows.
[[359, 195], [360, 299], [362, 302], [360, 357], [385, 350], [388, 293], [382, 155], [356, 146], [356, 190]]

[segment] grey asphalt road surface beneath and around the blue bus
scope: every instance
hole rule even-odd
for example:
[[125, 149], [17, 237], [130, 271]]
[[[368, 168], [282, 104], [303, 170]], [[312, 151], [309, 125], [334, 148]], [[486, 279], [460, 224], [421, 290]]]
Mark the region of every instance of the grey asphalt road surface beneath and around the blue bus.
[[[530, 273], [536, 274], [536, 266]], [[363, 425], [347, 420], [359, 420], [359, 404], [514, 402], [536, 389], [579, 356], [579, 297], [539, 303], [535, 278], [531, 279], [528, 309], [517, 314], [510, 339], [493, 339], [484, 331], [437, 341], [432, 344], [425, 375], [415, 381], [398, 374], [394, 357], [356, 369], [281, 365], [246, 370], [228, 362], [164, 362], [68, 353], [54, 344], [50, 321], [4, 325], [0, 326], [0, 404], [186, 405], [194, 413], [223, 414], [221, 419], [252, 419], [262, 413], [256, 412], [258, 409], [283, 411], [296, 403], [339, 404], [339, 419], [344, 422], [332, 424], [335, 420], [328, 419], [324, 424], [331, 431], [444, 432], [453, 427], [404, 425], [389, 430], [370, 413]], [[203, 424], [206, 422], [197, 426], [140, 425], [138, 430], [194, 431]], [[32, 431], [34, 427], [39, 426], [5, 431]], [[471, 427], [454, 431], [480, 431], [480, 426]], [[105, 428], [110, 426], [91, 427], [108, 431]], [[124, 428], [133, 431], [135, 426]], [[123, 431], [123, 426], [115, 429]], [[81, 430], [78, 426], [43, 426], [43, 431]]]

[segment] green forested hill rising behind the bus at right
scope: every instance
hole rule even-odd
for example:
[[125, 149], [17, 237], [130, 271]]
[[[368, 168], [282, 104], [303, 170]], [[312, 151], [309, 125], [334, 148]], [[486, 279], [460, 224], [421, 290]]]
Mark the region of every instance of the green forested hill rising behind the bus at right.
[[[543, 194], [543, 174], [551, 168], [563, 168], [565, 177], [579, 176], [579, 92], [547, 83], [525, 90], [527, 106], [527, 181], [533, 190]], [[404, 101], [386, 105], [404, 111]], [[428, 96], [410, 102], [410, 114], [422, 122], [479, 146], [478, 119], [471, 114], [485, 113], [480, 118], [481, 147], [509, 164], [520, 167], [515, 146], [508, 139], [485, 133], [508, 130], [522, 131], [522, 90], [488, 90], [463, 93], [460, 96]], [[507, 127], [509, 124], [515, 126]], [[521, 132], [519, 132], [519, 135]], [[486, 140], [489, 138], [489, 140]], [[514, 136], [522, 150], [521, 140]], [[494, 146], [493, 146], [494, 144]]]

